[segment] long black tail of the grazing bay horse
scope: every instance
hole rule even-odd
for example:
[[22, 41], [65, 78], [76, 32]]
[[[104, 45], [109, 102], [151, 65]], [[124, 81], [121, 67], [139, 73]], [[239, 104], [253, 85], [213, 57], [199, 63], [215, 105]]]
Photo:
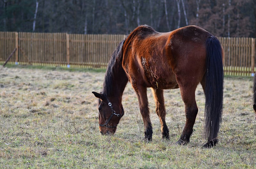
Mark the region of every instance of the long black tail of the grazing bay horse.
[[218, 142], [223, 108], [223, 49], [215, 36], [207, 37], [206, 47], [206, 84], [204, 108], [204, 136], [208, 142]]

